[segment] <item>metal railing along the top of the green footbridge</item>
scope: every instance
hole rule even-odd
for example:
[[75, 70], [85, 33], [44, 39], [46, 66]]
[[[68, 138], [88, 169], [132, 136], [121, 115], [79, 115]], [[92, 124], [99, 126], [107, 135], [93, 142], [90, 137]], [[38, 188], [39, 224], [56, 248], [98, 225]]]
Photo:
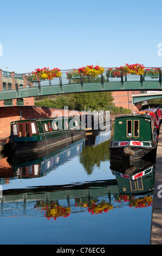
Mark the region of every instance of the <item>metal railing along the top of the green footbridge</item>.
[[[124, 74], [122, 70], [119, 70], [118, 76], [113, 76], [110, 72], [108, 72], [109, 68], [105, 68], [103, 74], [97, 77], [90, 76], [69, 76], [67, 72], [73, 72], [73, 70], [61, 70], [61, 77], [56, 77], [53, 80], [33, 80], [31, 74], [11, 74], [8, 71], [2, 71], [2, 77], [0, 77], [0, 92], [4, 92], [6, 90], [21, 90], [24, 88], [34, 88], [34, 87], [46, 87], [46, 86], [60, 86], [63, 87], [66, 84], [81, 84], [83, 86], [84, 83], [107, 83], [107, 82], [120, 82], [121, 84], [125, 82], [142, 82], [144, 81], [157, 81], [161, 84], [161, 68], [158, 69], [158, 73], [153, 75], [147, 74], [144, 72], [143, 75], [129, 75]], [[111, 68], [112, 71], [116, 68]], [[145, 68], [146, 69], [154, 69], [154, 68]], [[7, 73], [6, 73], [7, 72]], [[31, 78], [31, 79], [30, 79]]]

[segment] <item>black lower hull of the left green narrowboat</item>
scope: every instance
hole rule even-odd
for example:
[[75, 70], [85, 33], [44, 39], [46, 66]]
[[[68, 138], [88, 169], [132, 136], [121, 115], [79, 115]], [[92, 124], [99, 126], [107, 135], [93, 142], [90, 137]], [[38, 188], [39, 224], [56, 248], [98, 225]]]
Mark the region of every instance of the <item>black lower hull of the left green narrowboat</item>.
[[[29, 138], [29, 137], [28, 137]], [[10, 136], [9, 142], [4, 146], [4, 152], [7, 153], [31, 153], [37, 154], [42, 150], [49, 150], [55, 146], [65, 147], [67, 144], [74, 143], [79, 139], [85, 138], [85, 130], [68, 130], [64, 135], [55, 137], [38, 136], [34, 139], [27, 137]]]

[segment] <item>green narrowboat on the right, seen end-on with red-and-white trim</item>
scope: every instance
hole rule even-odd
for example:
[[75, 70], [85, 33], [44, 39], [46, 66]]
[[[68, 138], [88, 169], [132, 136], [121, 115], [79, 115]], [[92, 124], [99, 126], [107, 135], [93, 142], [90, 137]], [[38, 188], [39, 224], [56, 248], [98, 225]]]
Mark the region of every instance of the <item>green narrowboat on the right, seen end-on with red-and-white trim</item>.
[[115, 118], [113, 139], [109, 145], [111, 159], [155, 158], [156, 151], [157, 131], [151, 115], [135, 114]]

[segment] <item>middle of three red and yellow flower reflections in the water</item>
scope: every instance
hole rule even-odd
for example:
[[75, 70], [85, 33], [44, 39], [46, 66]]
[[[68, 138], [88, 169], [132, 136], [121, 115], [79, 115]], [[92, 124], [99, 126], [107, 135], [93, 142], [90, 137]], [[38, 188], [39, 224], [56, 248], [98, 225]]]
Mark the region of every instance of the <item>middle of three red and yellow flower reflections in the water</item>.
[[107, 203], [106, 201], [101, 201], [100, 204], [93, 204], [88, 211], [91, 214], [102, 214], [102, 212], [108, 212], [108, 210], [112, 210], [113, 205]]

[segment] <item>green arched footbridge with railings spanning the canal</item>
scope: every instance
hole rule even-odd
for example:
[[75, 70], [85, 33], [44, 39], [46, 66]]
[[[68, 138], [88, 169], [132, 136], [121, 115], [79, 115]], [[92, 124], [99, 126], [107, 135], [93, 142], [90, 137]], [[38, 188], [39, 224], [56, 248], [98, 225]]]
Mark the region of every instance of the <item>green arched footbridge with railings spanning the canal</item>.
[[120, 90], [162, 90], [161, 70], [153, 77], [145, 75], [107, 76], [107, 70], [98, 77], [69, 77], [67, 70], [61, 71], [61, 77], [54, 80], [28, 81], [29, 74], [10, 74], [0, 78], [0, 100], [16, 99], [50, 94], [81, 92], [106, 92]]

